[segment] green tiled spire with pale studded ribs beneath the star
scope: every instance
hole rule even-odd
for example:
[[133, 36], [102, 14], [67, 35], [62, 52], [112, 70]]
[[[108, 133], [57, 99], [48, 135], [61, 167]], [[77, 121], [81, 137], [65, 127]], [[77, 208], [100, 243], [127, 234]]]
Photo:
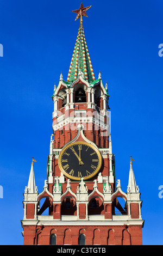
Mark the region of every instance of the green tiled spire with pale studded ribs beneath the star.
[[84, 73], [84, 79], [88, 82], [95, 80], [90, 54], [86, 45], [82, 22], [80, 22], [78, 36], [72, 54], [70, 69], [68, 71], [67, 81], [76, 80], [79, 70]]

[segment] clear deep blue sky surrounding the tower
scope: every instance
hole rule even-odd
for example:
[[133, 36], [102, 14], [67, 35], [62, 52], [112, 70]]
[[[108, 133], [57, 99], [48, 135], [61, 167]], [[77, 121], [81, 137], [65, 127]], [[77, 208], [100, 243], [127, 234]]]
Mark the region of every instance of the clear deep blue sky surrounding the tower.
[[[1, 154], [0, 244], [22, 245], [23, 192], [32, 156], [39, 193], [46, 179], [52, 134], [54, 83], [67, 80], [80, 1], [0, 0]], [[116, 179], [127, 192], [129, 156], [139, 185], [144, 245], [162, 245], [161, 0], [83, 1], [83, 17], [96, 79], [108, 82]], [[10, 234], [10, 235], [9, 235]]]

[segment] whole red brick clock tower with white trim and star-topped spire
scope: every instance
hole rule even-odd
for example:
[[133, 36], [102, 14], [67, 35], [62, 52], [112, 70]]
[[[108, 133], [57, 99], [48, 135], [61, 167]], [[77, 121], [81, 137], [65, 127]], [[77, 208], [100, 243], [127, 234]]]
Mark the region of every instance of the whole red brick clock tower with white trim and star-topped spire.
[[[120, 180], [116, 185], [108, 87], [101, 73], [97, 80], [93, 73], [82, 21], [87, 9], [81, 4], [74, 11], [80, 26], [68, 78], [61, 74], [54, 86], [53, 134], [41, 193], [32, 161], [21, 221], [24, 245], [142, 244], [142, 201], [132, 159], [127, 193]], [[43, 215], [47, 208], [48, 215]]]

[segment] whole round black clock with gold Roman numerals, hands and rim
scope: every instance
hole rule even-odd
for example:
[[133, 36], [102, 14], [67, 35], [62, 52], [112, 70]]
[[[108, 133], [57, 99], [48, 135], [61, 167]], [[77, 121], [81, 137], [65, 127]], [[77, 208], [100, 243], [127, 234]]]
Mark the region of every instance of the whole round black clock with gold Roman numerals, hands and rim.
[[74, 142], [62, 149], [58, 164], [67, 178], [86, 180], [98, 173], [102, 164], [102, 156], [99, 150], [91, 144]]

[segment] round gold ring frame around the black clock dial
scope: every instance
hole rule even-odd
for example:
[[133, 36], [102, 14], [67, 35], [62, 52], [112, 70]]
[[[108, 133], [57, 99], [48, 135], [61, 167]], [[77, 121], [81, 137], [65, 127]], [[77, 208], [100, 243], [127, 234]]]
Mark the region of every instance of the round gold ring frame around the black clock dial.
[[72, 175], [68, 174], [65, 172], [65, 170], [62, 168], [62, 164], [61, 164], [61, 156], [62, 154], [64, 153], [64, 151], [71, 147], [72, 145], [76, 145], [76, 144], [84, 144], [84, 145], [87, 145], [89, 146], [90, 148], [92, 148], [94, 151], [96, 151], [97, 155], [98, 155], [98, 159], [99, 159], [99, 162], [98, 162], [98, 166], [97, 166], [97, 169], [95, 170], [95, 172], [93, 172], [92, 174], [90, 174], [89, 176], [85, 176], [83, 177], [84, 180], [88, 180], [88, 179], [91, 179], [93, 176], [95, 176], [99, 170], [101, 169], [101, 166], [102, 166], [102, 155], [101, 153], [99, 152], [99, 150], [93, 146], [92, 144], [88, 143], [88, 142], [72, 142], [70, 144], [68, 144], [65, 148], [63, 148], [59, 154], [59, 157], [58, 157], [58, 165], [59, 165], [59, 168], [61, 170], [61, 172], [67, 177], [67, 178], [70, 178], [72, 180], [80, 180], [80, 177], [73, 177]]

